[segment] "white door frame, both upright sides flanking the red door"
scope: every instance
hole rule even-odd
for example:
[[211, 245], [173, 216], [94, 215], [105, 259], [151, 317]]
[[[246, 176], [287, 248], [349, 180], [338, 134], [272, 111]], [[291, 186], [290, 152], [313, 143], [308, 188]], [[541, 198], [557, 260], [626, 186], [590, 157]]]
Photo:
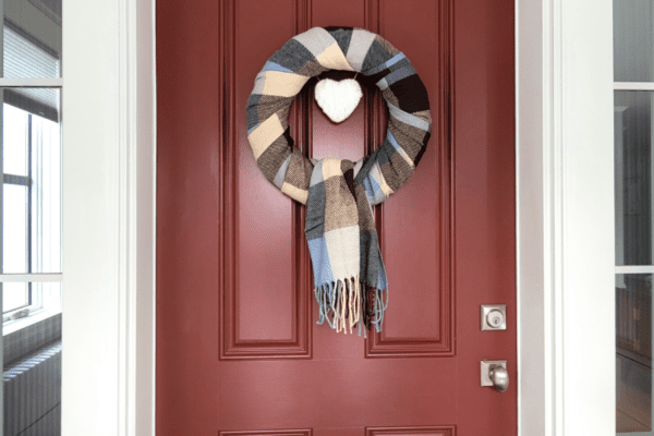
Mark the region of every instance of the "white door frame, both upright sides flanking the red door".
[[[521, 436], [615, 434], [611, 13], [516, 1]], [[63, 434], [154, 436], [155, 0], [63, 23]]]

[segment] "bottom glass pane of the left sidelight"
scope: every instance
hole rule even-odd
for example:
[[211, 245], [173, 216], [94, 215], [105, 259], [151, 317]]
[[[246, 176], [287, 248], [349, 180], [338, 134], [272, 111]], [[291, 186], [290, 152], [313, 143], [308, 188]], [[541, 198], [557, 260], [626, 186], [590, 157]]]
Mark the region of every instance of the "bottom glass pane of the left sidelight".
[[[4, 287], [4, 302], [10, 291]], [[12, 283], [13, 284], [13, 283]], [[3, 324], [3, 427], [0, 434], [61, 434], [61, 283], [20, 283], [31, 289], [29, 310]], [[2, 433], [2, 431], [4, 433]]]

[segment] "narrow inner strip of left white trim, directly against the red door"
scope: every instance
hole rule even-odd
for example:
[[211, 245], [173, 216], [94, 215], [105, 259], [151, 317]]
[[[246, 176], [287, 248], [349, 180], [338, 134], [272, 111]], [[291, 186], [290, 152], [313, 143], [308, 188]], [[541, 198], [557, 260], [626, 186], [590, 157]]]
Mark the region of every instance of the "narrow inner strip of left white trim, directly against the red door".
[[120, 416], [124, 435], [155, 436], [156, 61], [155, 0], [120, 0], [121, 209], [125, 214], [121, 275]]

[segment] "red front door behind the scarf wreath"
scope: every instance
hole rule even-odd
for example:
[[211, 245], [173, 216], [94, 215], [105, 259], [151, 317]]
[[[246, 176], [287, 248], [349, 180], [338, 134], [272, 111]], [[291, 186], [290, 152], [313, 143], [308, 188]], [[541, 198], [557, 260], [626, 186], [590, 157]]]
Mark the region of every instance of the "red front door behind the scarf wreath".
[[[304, 207], [257, 169], [245, 104], [265, 61], [313, 26], [365, 27], [425, 83], [433, 135], [375, 210], [384, 330], [316, 325]], [[157, 434], [517, 434], [512, 0], [157, 2]], [[313, 157], [380, 144], [365, 89], [330, 123], [310, 83], [291, 134]], [[508, 327], [481, 331], [480, 305]], [[481, 360], [511, 384], [480, 386]]]

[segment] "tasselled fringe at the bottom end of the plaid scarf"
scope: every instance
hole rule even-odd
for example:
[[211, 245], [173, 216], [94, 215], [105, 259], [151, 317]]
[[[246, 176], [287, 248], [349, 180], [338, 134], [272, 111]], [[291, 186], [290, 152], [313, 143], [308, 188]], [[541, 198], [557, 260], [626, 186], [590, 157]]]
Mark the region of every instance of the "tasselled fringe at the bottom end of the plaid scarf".
[[367, 337], [366, 330], [372, 329], [373, 325], [377, 332], [382, 331], [384, 313], [388, 307], [388, 289], [374, 288], [368, 291], [356, 276], [316, 287], [314, 293], [319, 311], [316, 324], [322, 325], [327, 320], [336, 332], [342, 330], [346, 335], [348, 327], [350, 335], [352, 327], [356, 327], [359, 336], [363, 325], [364, 337]]

